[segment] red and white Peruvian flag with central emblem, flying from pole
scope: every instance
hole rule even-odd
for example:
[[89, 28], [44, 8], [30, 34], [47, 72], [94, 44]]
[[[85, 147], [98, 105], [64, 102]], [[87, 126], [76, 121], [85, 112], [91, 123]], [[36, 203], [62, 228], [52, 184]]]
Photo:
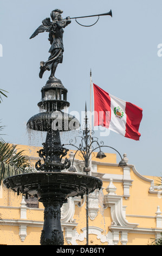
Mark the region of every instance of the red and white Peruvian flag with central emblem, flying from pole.
[[120, 100], [93, 84], [94, 126], [101, 125], [122, 136], [139, 141], [142, 109]]

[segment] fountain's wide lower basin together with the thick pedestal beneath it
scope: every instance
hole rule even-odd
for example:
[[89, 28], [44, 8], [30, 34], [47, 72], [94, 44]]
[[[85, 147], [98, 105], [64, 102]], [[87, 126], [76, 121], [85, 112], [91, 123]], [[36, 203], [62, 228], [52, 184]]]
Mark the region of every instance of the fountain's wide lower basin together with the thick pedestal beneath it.
[[98, 178], [74, 173], [29, 173], [11, 176], [5, 186], [17, 194], [34, 195], [44, 205], [41, 245], [63, 245], [61, 207], [68, 197], [83, 196], [101, 188]]

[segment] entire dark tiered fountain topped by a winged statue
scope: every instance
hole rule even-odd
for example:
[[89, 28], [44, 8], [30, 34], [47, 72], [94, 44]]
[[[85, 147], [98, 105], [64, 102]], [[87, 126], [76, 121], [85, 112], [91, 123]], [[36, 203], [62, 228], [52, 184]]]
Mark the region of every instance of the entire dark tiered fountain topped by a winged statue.
[[[41, 245], [63, 245], [63, 233], [61, 229], [61, 206], [67, 202], [68, 197], [83, 197], [84, 194], [92, 193], [96, 188], [102, 187], [102, 181], [88, 174], [63, 172], [70, 168], [70, 161], [66, 157], [68, 149], [61, 144], [60, 132], [76, 130], [79, 121], [70, 114], [64, 113], [64, 107], [69, 106], [67, 101], [67, 89], [61, 80], [55, 77], [57, 65], [62, 63], [63, 28], [70, 23], [61, 18], [61, 10], [51, 12], [51, 19], [42, 21], [33, 38], [40, 32], [49, 32], [51, 42], [50, 57], [47, 62], [41, 62], [40, 78], [44, 71], [51, 70], [51, 75], [46, 85], [42, 88], [42, 99], [38, 107], [42, 112], [31, 117], [27, 123], [28, 129], [46, 131], [46, 142], [38, 155], [43, 159], [36, 163], [37, 172], [10, 176], [4, 180], [7, 188], [17, 194], [38, 197], [44, 205], [44, 225], [41, 233]], [[85, 216], [86, 217], [86, 216]]]

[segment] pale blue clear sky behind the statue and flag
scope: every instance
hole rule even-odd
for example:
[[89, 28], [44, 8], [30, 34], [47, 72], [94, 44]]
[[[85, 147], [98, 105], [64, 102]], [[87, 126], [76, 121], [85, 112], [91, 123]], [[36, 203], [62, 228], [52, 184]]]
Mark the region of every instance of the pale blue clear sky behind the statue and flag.
[[[3, 125], [7, 126], [4, 139], [29, 144], [25, 123], [39, 112], [37, 103], [49, 72], [42, 80], [38, 72], [40, 61], [49, 57], [50, 47], [48, 33], [32, 40], [29, 37], [56, 8], [63, 10], [63, 17], [107, 13], [112, 9], [113, 18], [100, 17], [93, 27], [81, 27], [73, 20], [64, 29], [63, 63], [58, 66], [56, 77], [68, 89], [69, 112], [81, 113], [85, 101], [89, 109], [90, 68], [95, 84], [141, 107], [140, 141], [114, 132], [99, 139], [121, 154], [127, 153], [129, 163], [140, 174], [162, 175], [162, 57], [157, 54], [158, 44], [162, 44], [160, 0], [0, 0], [0, 88], [9, 92], [0, 106]], [[80, 22], [89, 25], [95, 20]], [[99, 131], [96, 136], [100, 136]]]

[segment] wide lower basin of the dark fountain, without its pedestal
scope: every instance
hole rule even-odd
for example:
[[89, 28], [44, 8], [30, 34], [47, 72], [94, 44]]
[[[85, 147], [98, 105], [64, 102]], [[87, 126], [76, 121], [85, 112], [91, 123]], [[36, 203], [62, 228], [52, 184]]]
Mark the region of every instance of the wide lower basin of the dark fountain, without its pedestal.
[[14, 192], [35, 195], [40, 198], [52, 197], [66, 202], [68, 197], [83, 196], [102, 187], [102, 181], [93, 176], [65, 172], [40, 172], [8, 177], [4, 185]]

